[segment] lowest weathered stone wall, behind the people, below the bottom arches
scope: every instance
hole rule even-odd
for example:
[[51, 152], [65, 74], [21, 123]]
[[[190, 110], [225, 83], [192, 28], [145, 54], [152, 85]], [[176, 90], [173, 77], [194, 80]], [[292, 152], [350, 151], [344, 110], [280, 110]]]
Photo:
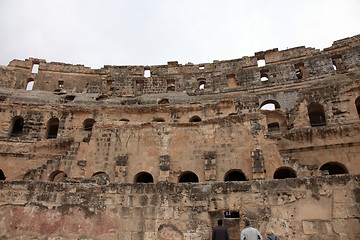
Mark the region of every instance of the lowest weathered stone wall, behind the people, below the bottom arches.
[[[1, 239], [239, 239], [250, 219], [281, 239], [358, 239], [360, 176], [212, 184], [0, 182]], [[225, 211], [239, 218], [225, 218]]]

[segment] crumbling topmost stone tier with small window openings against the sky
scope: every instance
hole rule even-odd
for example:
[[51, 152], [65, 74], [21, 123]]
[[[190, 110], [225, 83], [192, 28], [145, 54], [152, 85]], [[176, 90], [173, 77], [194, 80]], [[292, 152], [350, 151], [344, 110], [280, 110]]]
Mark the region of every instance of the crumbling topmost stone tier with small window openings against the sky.
[[[257, 52], [240, 59], [202, 64], [177, 61], [156, 66], [104, 66], [46, 62], [29, 58], [0, 66], [0, 87], [55, 93], [98, 93], [107, 96], [139, 96], [154, 93], [209, 94], [278, 84], [299, 83], [324, 76], [359, 70], [359, 35], [342, 39], [323, 51], [296, 47]], [[29, 79], [32, 86], [28, 87]], [[199, 91], [199, 79], [204, 89]]]

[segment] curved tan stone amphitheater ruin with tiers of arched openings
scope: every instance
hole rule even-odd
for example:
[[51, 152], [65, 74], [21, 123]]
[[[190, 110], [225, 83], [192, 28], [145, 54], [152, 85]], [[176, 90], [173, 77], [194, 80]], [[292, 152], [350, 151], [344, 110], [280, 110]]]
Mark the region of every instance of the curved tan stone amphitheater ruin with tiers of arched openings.
[[0, 239], [360, 239], [360, 35], [204, 64], [0, 66]]

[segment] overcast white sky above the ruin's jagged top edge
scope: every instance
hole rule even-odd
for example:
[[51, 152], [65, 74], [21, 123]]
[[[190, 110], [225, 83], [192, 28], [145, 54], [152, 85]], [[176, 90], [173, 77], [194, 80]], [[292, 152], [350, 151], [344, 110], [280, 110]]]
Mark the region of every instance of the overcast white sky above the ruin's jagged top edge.
[[0, 0], [0, 65], [166, 65], [360, 34], [360, 0]]

